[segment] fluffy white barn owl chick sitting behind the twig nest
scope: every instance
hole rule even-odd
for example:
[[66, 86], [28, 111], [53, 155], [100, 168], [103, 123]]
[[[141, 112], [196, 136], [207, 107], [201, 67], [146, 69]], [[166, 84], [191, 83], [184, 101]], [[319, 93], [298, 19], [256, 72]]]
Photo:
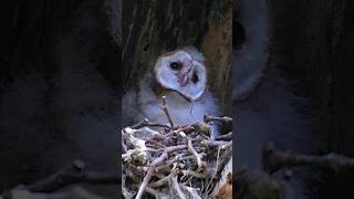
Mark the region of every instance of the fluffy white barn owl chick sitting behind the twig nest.
[[[168, 123], [162, 109], [166, 96], [175, 124], [189, 125], [202, 121], [204, 114], [219, 115], [216, 98], [207, 90], [205, 57], [188, 46], [162, 54], [154, 66], [139, 81], [138, 91], [128, 92], [123, 98], [124, 125], [143, 118], [153, 123]], [[212, 126], [211, 137], [218, 135]]]

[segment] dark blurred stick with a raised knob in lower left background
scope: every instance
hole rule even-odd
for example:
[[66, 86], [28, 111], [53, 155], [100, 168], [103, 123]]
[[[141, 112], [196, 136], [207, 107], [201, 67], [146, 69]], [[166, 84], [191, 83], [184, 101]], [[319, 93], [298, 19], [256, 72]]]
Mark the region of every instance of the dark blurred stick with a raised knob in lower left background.
[[70, 167], [34, 182], [27, 188], [32, 192], [53, 192], [65, 186], [79, 182], [118, 185], [121, 182], [118, 176], [118, 172], [87, 171], [85, 170], [85, 164], [83, 161], [75, 160]]

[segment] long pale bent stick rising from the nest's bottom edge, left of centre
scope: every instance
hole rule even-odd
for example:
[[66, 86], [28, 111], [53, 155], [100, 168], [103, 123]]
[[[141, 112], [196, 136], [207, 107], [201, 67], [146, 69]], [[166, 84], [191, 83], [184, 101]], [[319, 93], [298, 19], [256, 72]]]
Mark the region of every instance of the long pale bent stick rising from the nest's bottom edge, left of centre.
[[135, 199], [140, 199], [143, 197], [145, 188], [147, 187], [148, 182], [150, 181], [152, 177], [155, 174], [156, 167], [159, 166], [160, 164], [163, 164], [168, 158], [168, 154], [171, 151], [185, 149], [185, 148], [187, 148], [186, 145], [167, 147], [167, 148], [165, 148], [164, 153], [158, 158], [154, 159], [154, 161], [149, 166], [149, 168], [143, 179], [143, 182], [140, 185], [140, 188], [139, 188]]

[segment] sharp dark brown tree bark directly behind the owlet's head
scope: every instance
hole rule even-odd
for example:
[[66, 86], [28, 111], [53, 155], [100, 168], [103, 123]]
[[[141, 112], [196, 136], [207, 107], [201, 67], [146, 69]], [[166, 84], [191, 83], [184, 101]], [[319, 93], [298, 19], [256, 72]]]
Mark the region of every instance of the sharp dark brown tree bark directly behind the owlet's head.
[[135, 0], [123, 2], [125, 90], [136, 86], [163, 52], [185, 45], [207, 59], [210, 88], [230, 112], [230, 0]]

